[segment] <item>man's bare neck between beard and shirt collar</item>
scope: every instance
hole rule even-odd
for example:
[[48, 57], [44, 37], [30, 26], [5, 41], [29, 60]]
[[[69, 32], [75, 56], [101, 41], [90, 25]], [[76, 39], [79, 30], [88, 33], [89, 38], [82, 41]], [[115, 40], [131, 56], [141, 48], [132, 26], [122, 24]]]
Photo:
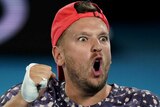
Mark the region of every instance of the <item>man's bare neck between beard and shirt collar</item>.
[[[73, 91], [70, 91], [72, 88]], [[83, 106], [90, 106], [94, 105], [103, 99], [105, 99], [111, 90], [111, 86], [105, 85], [99, 92], [95, 93], [94, 95], [88, 95], [88, 93], [85, 93], [84, 91], [80, 90], [70, 82], [66, 81], [65, 84], [65, 92], [67, 96], [74, 101], [77, 104], [83, 105]]]

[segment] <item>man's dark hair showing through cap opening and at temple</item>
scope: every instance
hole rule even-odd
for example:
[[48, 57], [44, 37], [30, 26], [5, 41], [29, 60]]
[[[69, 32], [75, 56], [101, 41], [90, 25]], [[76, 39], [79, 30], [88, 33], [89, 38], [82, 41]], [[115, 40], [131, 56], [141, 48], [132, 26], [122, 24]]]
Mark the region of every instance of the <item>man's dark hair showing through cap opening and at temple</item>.
[[[95, 11], [99, 12], [99, 9], [95, 5], [93, 5], [90, 0], [78, 1], [77, 3], [75, 3], [74, 8], [76, 9], [77, 13], [95, 12]], [[62, 33], [62, 35], [58, 39], [57, 46], [61, 44], [64, 34], [65, 34], [65, 31]]]

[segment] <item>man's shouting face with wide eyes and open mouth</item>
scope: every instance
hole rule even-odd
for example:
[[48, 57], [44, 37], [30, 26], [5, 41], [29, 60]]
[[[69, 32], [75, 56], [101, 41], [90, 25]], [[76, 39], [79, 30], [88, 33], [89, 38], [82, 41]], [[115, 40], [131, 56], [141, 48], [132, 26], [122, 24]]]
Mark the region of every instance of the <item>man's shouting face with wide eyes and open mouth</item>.
[[111, 63], [109, 31], [96, 17], [81, 18], [63, 35], [65, 79], [85, 91], [99, 91]]

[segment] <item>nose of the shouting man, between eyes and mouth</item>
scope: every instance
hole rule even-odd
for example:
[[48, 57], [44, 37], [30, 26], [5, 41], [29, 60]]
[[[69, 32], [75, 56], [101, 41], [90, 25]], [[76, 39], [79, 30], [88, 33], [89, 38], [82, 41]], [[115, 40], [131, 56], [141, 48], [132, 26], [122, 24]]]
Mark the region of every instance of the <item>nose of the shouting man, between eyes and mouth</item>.
[[92, 42], [92, 48], [91, 48], [91, 52], [101, 52], [102, 51], [102, 46], [101, 43], [99, 42], [99, 40], [93, 40]]

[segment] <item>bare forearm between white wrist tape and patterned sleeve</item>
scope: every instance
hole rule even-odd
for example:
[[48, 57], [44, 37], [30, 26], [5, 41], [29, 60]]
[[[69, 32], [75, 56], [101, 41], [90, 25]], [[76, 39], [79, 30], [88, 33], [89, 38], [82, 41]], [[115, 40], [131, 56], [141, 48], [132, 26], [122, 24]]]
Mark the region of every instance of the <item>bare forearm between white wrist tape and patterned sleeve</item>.
[[19, 92], [15, 97], [9, 100], [3, 107], [27, 107], [28, 103], [22, 98]]

